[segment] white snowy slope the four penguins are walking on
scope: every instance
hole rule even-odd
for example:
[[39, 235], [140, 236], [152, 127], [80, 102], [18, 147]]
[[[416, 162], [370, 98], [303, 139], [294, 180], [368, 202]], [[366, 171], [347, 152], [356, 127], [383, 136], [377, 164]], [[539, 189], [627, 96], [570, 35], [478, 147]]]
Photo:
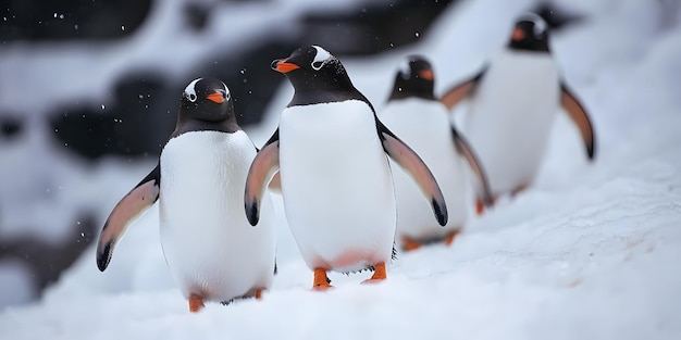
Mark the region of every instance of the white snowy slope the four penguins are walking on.
[[[510, 7], [502, 2], [453, 9], [417, 47], [347, 61], [350, 76], [381, 108], [399, 58], [421, 52], [444, 73], [438, 83], [444, 89], [443, 83], [473, 73], [481, 55], [504, 40], [512, 12], [499, 9], [492, 14], [496, 24], [483, 23], [491, 7]], [[312, 292], [312, 273], [297, 253], [276, 200], [280, 275], [274, 287], [261, 301], [209, 304], [189, 314], [165, 267], [153, 209], [131, 227], [106, 273], [98, 272], [90, 249], [40, 302], [1, 311], [0, 335], [681, 338], [681, 29], [656, 27], [660, 13], [652, 2], [616, 2], [591, 8], [589, 1], [577, 2], [594, 20], [554, 40], [568, 81], [592, 112], [596, 162], [584, 160], [577, 130], [559, 115], [536, 186], [472, 221], [451, 248], [399, 254], [380, 285], [359, 285], [367, 273], [332, 275], [336, 289]], [[478, 33], [488, 39], [473, 41]], [[263, 126], [249, 130], [258, 144], [269, 137], [289, 96], [286, 84]], [[129, 185], [139, 178], [131, 176]], [[117, 184], [111, 188], [120, 197], [128, 188]]]

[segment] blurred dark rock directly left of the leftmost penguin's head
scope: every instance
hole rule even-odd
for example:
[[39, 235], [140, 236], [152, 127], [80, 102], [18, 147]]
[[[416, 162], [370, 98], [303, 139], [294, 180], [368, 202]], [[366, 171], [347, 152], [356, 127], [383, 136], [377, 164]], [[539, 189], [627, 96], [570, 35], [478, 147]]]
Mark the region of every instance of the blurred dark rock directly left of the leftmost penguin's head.
[[135, 73], [116, 85], [111, 106], [75, 105], [51, 115], [57, 139], [90, 160], [158, 156], [175, 126], [177, 96], [161, 76]]

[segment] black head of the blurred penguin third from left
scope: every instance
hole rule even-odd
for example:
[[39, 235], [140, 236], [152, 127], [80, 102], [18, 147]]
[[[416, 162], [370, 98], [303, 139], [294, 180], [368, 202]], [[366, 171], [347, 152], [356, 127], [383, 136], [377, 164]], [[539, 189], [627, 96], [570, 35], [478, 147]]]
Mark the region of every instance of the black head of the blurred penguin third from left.
[[435, 99], [435, 78], [431, 63], [421, 55], [408, 56], [395, 75], [395, 85], [388, 100], [408, 97]]

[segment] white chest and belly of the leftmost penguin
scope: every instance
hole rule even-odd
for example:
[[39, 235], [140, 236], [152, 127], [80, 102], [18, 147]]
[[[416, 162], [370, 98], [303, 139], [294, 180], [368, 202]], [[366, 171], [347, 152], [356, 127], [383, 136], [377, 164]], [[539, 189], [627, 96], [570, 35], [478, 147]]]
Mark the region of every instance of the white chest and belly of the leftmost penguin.
[[250, 226], [244, 212], [246, 175], [255, 156], [244, 131], [186, 133], [163, 148], [161, 244], [185, 297], [228, 301], [272, 281], [270, 198], [263, 198], [258, 227]]

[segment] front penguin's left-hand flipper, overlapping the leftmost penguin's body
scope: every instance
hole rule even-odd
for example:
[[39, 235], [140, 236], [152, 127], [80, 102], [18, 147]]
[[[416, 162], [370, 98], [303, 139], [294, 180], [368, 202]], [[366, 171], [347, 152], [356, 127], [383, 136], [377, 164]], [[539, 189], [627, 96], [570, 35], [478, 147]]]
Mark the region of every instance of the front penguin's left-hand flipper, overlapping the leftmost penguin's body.
[[267, 184], [278, 171], [278, 129], [268, 140], [253, 159], [246, 177], [244, 192], [244, 207], [246, 217], [251, 226], [256, 226], [260, 219], [260, 201], [264, 194]]

